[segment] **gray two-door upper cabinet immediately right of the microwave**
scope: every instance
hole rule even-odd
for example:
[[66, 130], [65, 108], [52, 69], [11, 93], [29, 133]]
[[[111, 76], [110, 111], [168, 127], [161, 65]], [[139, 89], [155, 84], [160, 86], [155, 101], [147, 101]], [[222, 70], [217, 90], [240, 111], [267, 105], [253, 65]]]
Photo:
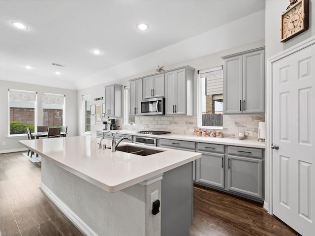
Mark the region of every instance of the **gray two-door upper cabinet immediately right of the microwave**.
[[193, 68], [165, 72], [165, 115], [193, 113]]

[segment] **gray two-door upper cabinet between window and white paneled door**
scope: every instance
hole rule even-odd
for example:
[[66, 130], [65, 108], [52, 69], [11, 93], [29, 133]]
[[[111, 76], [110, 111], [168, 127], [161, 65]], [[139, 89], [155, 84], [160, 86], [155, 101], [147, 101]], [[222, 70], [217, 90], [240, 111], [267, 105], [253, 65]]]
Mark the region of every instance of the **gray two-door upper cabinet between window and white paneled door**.
[[265, 113], [265, 49], [222, 59], [224, 114]]

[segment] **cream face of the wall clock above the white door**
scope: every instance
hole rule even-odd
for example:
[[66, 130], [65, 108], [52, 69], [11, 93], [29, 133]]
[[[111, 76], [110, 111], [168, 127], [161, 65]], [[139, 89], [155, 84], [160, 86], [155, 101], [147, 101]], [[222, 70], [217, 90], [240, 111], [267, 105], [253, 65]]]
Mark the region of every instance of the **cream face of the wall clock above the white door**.
[[283, 16], [283, 38], [286, 38], [303, 28], [302, 5], [298, 4]]

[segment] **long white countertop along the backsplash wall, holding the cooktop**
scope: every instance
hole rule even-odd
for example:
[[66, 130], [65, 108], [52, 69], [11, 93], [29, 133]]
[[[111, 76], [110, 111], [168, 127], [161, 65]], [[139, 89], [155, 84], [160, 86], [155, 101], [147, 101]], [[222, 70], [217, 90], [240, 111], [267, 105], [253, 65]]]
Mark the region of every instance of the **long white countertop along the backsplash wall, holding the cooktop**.
[[[97, 130], [99, 132], [104, 132], [103, 130]], [[129, 134], [142, 137], [154, 137], [159, 139], [173, 139], [173, 140], [183, 140], [183, 141], [192, 141], [199, 143], [210, 143], [210, 144], [222, 144], [222, 145], [232, 145], [240, 147], [249, 147], [249, 148], [263, 148], [265, 149], [265, 142], [258, 142], [257, 140], [252, 139], [232, 139], [232, 138], [212, 138], [212, 137], [201, 137], [194, 136], [189, 134], [162, 134], [162, 135], [152, 135], [152, 134], [138, 134], [137, 131], [130, 130], [111, 130], [111, 132], [118, 132], [120, 134]]]

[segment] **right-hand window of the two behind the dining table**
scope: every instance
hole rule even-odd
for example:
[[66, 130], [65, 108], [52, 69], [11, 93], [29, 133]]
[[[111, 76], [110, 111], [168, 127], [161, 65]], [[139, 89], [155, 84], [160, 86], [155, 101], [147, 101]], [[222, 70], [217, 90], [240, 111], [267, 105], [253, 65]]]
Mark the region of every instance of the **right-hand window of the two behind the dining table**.
[[43, 125], [63, 127], [65, 123], [65, 95], [43, 93]]

